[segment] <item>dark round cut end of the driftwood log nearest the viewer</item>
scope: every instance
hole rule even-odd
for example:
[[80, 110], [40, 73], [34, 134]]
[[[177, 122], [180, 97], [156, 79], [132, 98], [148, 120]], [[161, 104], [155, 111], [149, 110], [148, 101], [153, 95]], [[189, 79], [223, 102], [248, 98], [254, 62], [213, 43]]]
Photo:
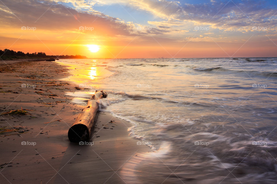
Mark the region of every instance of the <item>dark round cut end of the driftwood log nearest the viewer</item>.
[[89, 129], [84, 124], [75, 124], [68, 130], [68, 139], [70, 142], [78, 143], [89, 140]]

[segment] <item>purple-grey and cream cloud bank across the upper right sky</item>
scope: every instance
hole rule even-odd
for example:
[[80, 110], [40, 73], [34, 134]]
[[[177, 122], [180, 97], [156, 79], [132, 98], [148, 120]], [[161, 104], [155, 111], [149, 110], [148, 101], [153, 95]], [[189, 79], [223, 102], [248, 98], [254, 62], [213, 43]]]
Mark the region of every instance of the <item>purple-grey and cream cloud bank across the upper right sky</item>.
[[160, 22], [148, 21], [149, 24], [163, 24], [161, 26], [185, 21], [229, 30], [267, 24], [275, 30], [277, 24], [276, 16], [271, 17], [276, 9], [264, 7], [263, 1], [246, 0], [234, 3], [212, 0], [211, 3], [188, 4], [166, 0], [130, 0], [129, 4], [165, 19]]

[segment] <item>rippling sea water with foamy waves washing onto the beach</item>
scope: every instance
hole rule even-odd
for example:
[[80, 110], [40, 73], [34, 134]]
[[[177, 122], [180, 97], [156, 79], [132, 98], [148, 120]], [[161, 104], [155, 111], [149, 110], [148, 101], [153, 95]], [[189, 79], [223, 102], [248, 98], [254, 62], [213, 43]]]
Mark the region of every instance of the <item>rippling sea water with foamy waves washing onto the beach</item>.
[[[259, 61], [259, 62], [257, 62]], [[126, 183], [276, 183], [277, 58], [59, 60], [102, 110], [131, 122], [154, 152], [130, 158]], [[156, 150], [156, 151], [155, 151]]]

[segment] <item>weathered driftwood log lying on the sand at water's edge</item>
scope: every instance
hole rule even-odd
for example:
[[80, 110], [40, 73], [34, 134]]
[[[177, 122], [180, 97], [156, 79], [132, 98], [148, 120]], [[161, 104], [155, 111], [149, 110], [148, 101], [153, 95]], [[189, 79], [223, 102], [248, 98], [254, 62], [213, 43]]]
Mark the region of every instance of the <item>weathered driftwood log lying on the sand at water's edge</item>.
[[99, 105], [98, 99], [106, 98], [105, 91], [95, 91], [94, 95], [88, 100], [87, 106], [83, 108], [81, 114], [78, 115], [74, 124], [68, 130], [68, 138], [70, 142], [88, 141], [92, 127], [98, 115]]

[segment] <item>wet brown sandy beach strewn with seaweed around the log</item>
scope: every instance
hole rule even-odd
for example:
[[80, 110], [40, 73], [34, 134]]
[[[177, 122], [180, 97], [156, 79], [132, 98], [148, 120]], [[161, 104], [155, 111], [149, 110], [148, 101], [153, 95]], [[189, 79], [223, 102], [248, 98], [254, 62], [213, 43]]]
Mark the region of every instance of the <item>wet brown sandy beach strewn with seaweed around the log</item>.
[[0, 116], [0, 183], [125, 183], [124, 164], [150, 151], [128, 136], [129, 122], [106, 112], [98, 116], [93, 145], [70, 143], [68, 129], [83, 106], [65, 95], [78, 91], [60, 80], [68, 75], [55, 62], [1, 61], [1, 113], [28, 114]]

